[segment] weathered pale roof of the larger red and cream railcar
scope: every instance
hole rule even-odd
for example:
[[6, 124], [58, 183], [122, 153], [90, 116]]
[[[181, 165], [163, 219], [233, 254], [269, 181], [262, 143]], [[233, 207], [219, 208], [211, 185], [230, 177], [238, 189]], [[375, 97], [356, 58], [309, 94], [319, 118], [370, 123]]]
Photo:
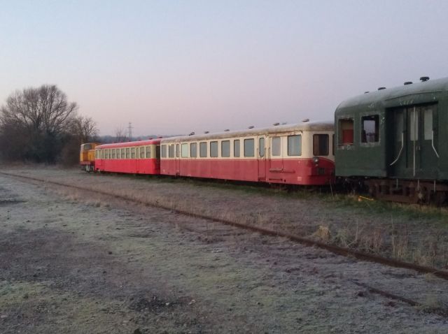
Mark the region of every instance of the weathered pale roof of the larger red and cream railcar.
[[283, 124], [275, 126], [267, 126], [263, 128], [244, 129], [239, 131], [223, 131], [217, 133], [201, 133], [191, 136], [176, 136], [169, 138], [162, 138], [163, 143], [171, 143], [176, 141], [196, 141], [221, 139], [244, 136], [267, 135], [271, 133], [290, 133], [294, 131], [334, 131], [334, 122], [301, 122], [296, 124]]

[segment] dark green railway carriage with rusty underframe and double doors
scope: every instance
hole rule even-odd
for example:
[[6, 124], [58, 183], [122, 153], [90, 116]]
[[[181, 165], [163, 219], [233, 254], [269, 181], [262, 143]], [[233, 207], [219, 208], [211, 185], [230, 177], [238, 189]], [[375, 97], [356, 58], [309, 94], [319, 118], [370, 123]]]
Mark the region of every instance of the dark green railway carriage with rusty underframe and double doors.
[[375, 196], [444, 201], [448, 191], [448, 78], [366, 92], [335, 112], [336, 175]]

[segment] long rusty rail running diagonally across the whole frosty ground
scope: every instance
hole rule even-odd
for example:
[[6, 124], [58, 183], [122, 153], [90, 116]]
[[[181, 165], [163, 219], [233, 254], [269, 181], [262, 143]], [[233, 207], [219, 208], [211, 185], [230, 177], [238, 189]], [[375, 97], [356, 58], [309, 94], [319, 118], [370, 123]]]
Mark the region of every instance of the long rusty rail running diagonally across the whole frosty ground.
[[102, 190], [98, 190], [98, 189], [91, 189], [91, 188], [88, 188], [88, 187], [80, 187], [80, 186], [76, 186], [76, 185], [73, 185], [73, 184], [65, 184], [65, 183], [62, 183], [62, 182], [43, 180], [43, 179], [39, 179], [39, 178], [36, 178], [36, 177], [30, 177], [30, 176], [25, 176], [25, 175], [16, 175], [16, 174], [13, 174], [13, 173], [0, 172], [0, 174], [12, 176], [12, 177], [23, 178], [23, 179], [27, 179], [27, 180], [33, 180], [33, 181], [37, 181], [37, 182], [46, 182], [48, 184], [55, 184], [55, 185], [58, 185], [58, 186], [69, 187], [69, 188], [79, 189], [79, 190], [83, 190], [83, 191], [91, 191], [91, 192], [94, 192], [96, 194], [101, 194], [101, 195], [104, 195], [104, 196], [112, 196], [114, 198], [122, 199], [124, 201], [131, 201], [131, 202], [139, 203], [139, 204], [143, 204], [143, 205], [151, 205], [153, 208], [160, 208], [160, 209], [164, 209], [164, 210], [171, 210], [171, 211], [176, 212], [176, 213], [181, 214], [181, 215], [187, 215], [187, 216], [195, 217], [195, 218], [199, 218], [199, 219], [207, 219], [207, 220], [211, 220], [211, 221], [214, 221], [214, 222], [219, 222], [219, 223], [230, 225], [230, 226], [235, 226], [235, 227], [238, 227], [238, 228], [244, 228], [247, 231], [257, 232], [257, 233], [260, 233], [262, 235], [271, 235], [271, 236], [274, 236], [274, 237], [286, 238], [288, 240], [291, 240], [291, 241], [294, 241], [294, 242], [299, 242], [299, 243], [301, 243], [303, 245], [307, 245], [307, 246], [310, 246], [310, 247], [318, 247], [318, 248], [321, 248], [321, 249], [325, 249], [325, 250], [327, 250], [329, 252], [332, 252], [334, 254], [338, 254], [338, 255], [342, 255], [342, 256], [348, 256], [348, 257], [354, 257], [354, 258], [356, 258], [358, 260], [362, 260], [362, 261], [381, 263], [381, 264], [384, 264], [385, 266], [391, 266], [391, 267], [395, 267], [395, 268], [405, 268], [405, 269], [415, 270], [415, 271], [417, 271], [419, 273], [430, 273], [430, 274], [433, 274], [433, 275], [435, 275], [437, 277], [440, 277], [442, 279], [447, 279], [448, 280], [448, 271], [446, 271], [446, 270], [440, 270], [440, 269], [437, 269], [437, 268], [431, 268], [431, 267], [426, 267], [426, 266], [419, 266], [419, 265], [414, 264], [414, 263], [408, 263], [408, 262], [399, 261], [399, 260], [396, 260], [396, 259], [388, 259], [388, 258], [386, 258], [384, 256], [379, 256], [379, 255], [375, 255], [375, 254], [368, 254], [368, 253], [365, 253], [365, 252], [356, 251], [354, 249], [349, 249], [349, 248], [345, 248], [345, 247], [339, 247], [339, 246], [336, 246], [336, 245], [330, 245], [330, 244], [327, 244], [325, 242], [311, 240], [309, 238], [304, 238], [304, 237], [301, 237], [299, 235], [283, 233], [283, 232], [280, 232], [280, 231], [272, 231], [272, 230], [269, 230], [267, 228], [262, 228], [262, 227], [258, 227], [258, 226], [243, 224], [243, 223], [239, 223], [239, 222], [232, 222], [232, 221], [227, 220], [227, 219], [211, 217], [211, 216], [202, 215], [200, 213], [190, 212], [190, 211], [186, 211], [186, 210], [179, 210], [179, 209], [176, 209], [176, 208], [171, 208], [171, 207], [169, 207], [169, 205], [162, 205], [160, 203], [151, 203], [151, 202], [148, 202], [148, 201], [142, 201], [140, 199], [132, 198], [130, 196], [123, 196], [123, 195], [108, 193], [106, 191], [102, 191]]

